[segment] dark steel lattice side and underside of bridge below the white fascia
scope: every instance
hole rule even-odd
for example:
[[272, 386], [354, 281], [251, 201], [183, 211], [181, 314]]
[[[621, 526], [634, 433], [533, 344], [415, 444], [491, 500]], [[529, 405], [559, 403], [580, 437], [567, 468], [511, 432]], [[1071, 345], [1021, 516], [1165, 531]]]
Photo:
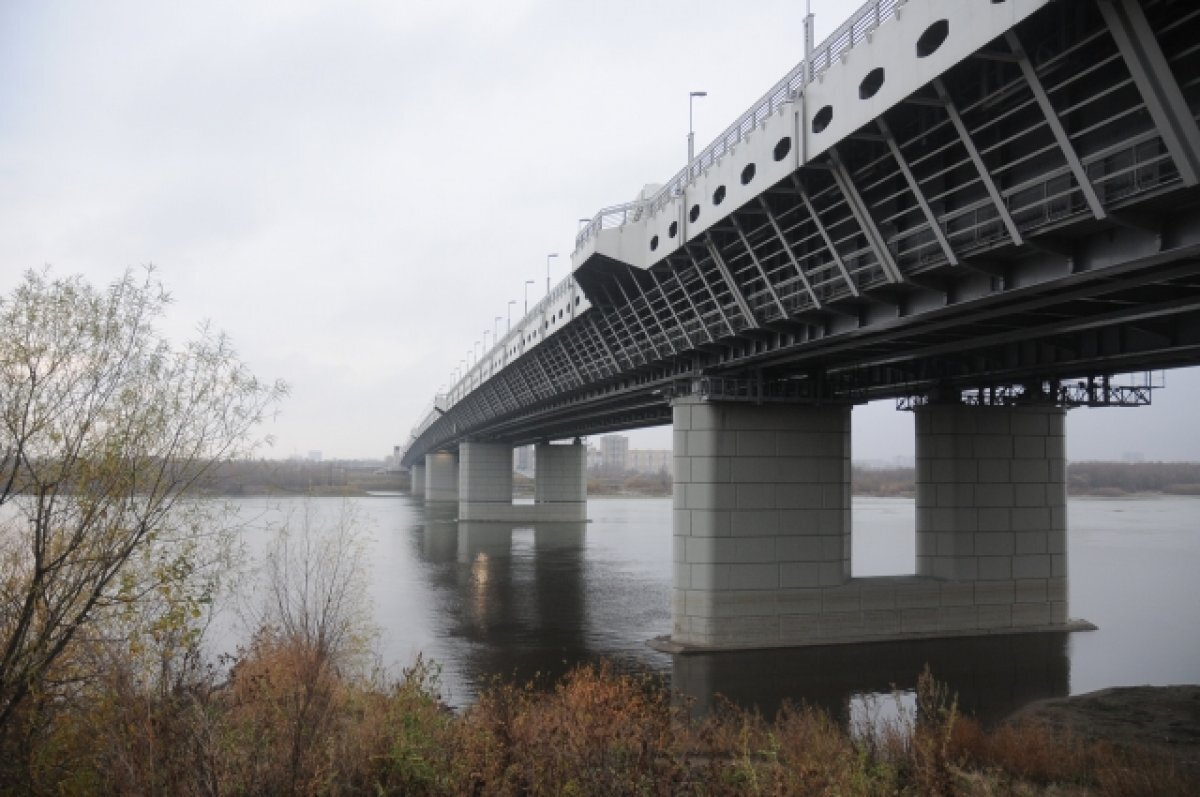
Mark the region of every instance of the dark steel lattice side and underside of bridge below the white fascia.
[[697, 374], [863, 401], [1200, 362], [1200, 8], [1142, 4], [1138, 41], [1103, 5], [1051, 4], [647, 270], [594, 256], [592, 310], [409, 450], [668, 423]]

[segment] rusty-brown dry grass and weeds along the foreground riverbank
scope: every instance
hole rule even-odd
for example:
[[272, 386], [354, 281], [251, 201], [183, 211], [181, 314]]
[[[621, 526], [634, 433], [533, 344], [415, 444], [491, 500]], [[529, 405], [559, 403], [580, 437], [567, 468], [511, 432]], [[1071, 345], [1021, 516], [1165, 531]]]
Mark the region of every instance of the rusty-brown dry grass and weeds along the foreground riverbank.
[[[1045, 725], [984, 731], [928, 673], [911, 717], [848, 733], [822, 711], [694, 719], [658, 679], [581, 667], [496, 683], [460, 714], [436, 669], [391, 682], [263, 633], [228, 678], [148, 694], [114, 670], [37, 733], [0, 791], [58, 795], [1194, 795], [1148, 753]], [[103, 697], [102, 697], [103, 695]], [[7, 756], [10, 751], [0, 751]], [[0, 761], [12, 761], [0, 757]], [[20, 777], [18, 777], [20, 775]]]

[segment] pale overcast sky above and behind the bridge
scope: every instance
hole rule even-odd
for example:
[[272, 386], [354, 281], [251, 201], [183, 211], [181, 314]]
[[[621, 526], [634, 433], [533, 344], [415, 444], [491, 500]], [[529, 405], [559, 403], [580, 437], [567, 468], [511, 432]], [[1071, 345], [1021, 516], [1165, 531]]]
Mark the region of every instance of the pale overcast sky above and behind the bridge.
[[[817, 37], [857, 2], [815, 0]], [[752, 13], [746, 8], [752, 7]], [[0, 0], [0, 289], [154, 263], [168, 331], [292, 395], [270, 456], [383, 456], [578, 218], [661, 182], [803, 54], [802, 0]], [[1200, 459], [1196, 372], [1070, 415], [1073, 459]], [[665, 447], [668, 435], [636, 436]], [[912, 421], [856, 411], [854, 455]]]

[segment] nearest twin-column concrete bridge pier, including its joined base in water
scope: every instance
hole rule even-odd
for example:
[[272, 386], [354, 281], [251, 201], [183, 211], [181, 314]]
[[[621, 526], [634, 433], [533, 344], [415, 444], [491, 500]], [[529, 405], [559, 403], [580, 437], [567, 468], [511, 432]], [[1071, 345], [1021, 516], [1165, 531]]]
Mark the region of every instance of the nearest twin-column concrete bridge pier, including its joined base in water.
[[1064, 417], [920, 407], [916, 574], [852, 579], [850, 407], [677, 400], [666, 647], [1090, 628], [1067, 618]]

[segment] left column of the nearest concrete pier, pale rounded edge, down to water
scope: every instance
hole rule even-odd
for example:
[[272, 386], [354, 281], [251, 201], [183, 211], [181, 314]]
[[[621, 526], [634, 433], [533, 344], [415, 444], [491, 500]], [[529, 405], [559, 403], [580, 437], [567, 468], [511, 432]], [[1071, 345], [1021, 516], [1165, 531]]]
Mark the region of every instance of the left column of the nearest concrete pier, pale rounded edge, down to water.
[[684, 398], [673, 423], [671, 641], [862, 636], [850, 583], [850, 408]]

